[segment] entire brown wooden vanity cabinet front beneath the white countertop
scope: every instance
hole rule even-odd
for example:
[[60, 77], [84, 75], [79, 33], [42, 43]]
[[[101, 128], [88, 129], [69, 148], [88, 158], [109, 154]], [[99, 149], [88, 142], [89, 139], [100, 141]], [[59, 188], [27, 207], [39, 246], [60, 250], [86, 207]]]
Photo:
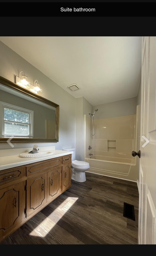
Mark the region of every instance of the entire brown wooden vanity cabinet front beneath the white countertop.
[[0, 171], [0, 242], [71, 186], [71, 155]]

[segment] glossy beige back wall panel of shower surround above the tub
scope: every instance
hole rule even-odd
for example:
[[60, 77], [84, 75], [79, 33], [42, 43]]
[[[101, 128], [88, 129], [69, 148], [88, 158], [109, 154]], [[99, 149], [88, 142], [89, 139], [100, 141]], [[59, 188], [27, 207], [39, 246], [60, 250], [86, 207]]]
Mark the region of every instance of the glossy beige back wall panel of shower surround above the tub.
[[136, 115], [96, 119], [92, 149], [131, 153], [135, 145]]

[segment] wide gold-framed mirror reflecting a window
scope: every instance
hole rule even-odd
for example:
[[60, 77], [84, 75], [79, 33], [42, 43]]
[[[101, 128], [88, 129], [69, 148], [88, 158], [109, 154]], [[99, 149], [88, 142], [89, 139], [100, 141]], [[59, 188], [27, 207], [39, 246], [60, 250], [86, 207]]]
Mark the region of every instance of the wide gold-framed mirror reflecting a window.
[[0, 143], [10, 139], [58, 142], [59, 105], [0, 76]]

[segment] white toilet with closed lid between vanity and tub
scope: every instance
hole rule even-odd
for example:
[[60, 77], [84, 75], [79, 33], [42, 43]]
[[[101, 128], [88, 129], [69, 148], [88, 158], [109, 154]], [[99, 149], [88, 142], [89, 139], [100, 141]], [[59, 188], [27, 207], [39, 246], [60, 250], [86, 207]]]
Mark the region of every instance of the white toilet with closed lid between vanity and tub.
[[85, 171], [87, 171], [90, 168], [89, 163], [85, 161], [75, 160], [75, 148], [66, 148], [63, 150], [74, 152], [72, 154], [72, 180], [75, 180], [77, 182], [85, 182], [86, 181]]

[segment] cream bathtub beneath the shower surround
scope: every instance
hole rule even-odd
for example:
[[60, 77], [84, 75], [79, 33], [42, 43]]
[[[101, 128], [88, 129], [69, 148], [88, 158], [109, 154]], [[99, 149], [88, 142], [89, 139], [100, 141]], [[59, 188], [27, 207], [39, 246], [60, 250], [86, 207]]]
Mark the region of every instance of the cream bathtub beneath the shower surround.
[[86, 153], [85, 161], [90, 164], [87, 172], [137, 182], [137, 161], [130, 153], [92, 151]]

